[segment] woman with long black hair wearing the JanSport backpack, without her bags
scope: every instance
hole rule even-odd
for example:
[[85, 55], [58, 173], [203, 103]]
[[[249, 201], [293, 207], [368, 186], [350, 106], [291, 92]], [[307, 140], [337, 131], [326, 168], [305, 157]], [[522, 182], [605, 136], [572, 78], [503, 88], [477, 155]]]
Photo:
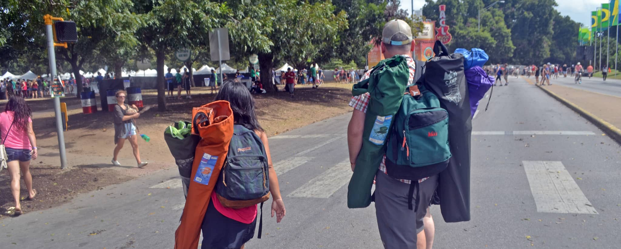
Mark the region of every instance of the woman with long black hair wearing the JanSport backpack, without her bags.
[[[229, 101], [235, 124], [254, 130], [255, 134], [261, 138], [268, 158], [270, 194], [273, 198], [271, 217], [274, 217], [276, 213], [276, 222], [280, 222], [285, 215], [284, 202], [271, 161], [268, 137], [261, 128], [259, 120], [256, 119], [255, 100], [245, 84], [232, 79], [222, 83], [215, 100]], [[256, 205], [241, 209], [222, 206], [214, 191], [202, 223], [202, 248], [243, 249], [243, 245], [255, 235], [256, 214]]]

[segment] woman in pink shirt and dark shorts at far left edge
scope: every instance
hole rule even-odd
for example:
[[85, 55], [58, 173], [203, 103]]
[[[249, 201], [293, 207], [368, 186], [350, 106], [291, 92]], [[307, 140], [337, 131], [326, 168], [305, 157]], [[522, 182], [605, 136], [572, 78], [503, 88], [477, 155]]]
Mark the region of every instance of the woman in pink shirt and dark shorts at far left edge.
[[11, 96], [0, 113], [0, 135], [6, 147], [7, 166], [11, 174], [11, 192], [15, 200], [15, 215], [23, 213], [19, 203], [19, 171], [22, 171], [27, 200], [32, 201], [37, 191], [32, 188], [32, 174], [30, 174], [30, 159], [37, 158], [37, 139], [32, 130], [32, 111], [23, 97]]

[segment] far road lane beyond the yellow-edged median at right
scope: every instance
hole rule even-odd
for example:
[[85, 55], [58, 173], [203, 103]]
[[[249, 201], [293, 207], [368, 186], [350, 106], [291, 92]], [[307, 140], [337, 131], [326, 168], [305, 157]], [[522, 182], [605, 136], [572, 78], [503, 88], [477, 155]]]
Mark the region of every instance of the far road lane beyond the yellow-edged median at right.
[[[535, 78], [531, 77], [530, 80], [534, 83]], [[563, 78], [560, 76], [558, 79], [551, 79], [552, 84], [561, 84], [563, 86], [569, 86], [571, 88], [592, 91], [595, 93], [609, 94], [612, 96], [621, 97], [621, 79], [606, 79], [604, 81], [601, 77], [595, 78], [582, 77], [582, 84], [574, 83], [574, 78], [567, 76]]]

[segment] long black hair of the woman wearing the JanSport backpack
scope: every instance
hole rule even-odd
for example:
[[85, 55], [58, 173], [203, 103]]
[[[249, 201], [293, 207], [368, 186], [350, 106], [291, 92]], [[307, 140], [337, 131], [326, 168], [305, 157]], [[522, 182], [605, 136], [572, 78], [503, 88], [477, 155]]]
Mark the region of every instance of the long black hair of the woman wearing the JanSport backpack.
[[235, 124], [245, 126], [250, 130], [263, 132], [263, 128], [256, 119], [255, 99], [250, 94], [246, 85], [235, 80], [227, 79], [222, 82], [220, 91], [215, 96], [216, 101], [229, 101], [233, 110]]

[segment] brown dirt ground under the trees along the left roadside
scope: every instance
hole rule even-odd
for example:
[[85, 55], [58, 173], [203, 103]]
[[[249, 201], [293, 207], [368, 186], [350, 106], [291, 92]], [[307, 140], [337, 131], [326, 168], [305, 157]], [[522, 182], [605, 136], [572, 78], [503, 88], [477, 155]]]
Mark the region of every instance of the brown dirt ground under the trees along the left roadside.
[[[280, 87], [282, 89], [282, 87]], [[303, 127], [320, 120], [351, 111], [348, 101], [351, 84], [327, 83], [318, 89], [296, 86], [296, 97], [279, 91], [271, 94], [256, 94], [256, 114], [268, 136]], [[184, 91], [182, 96], [185, 96]], [[193, 88], [193, 99], [166, 99], [168, 110], [158, 112], [156, 108], [140, 115], [136, 120], [141, 134], [151, 140], [139, 138], [140, 158], [148, 161], [142, 169], [136, 167], [132, 149], [128, 142], [119, 153], [122, 166], [111, 165], [114, 149], [114, 125], [111, 112], [99, 111], [83, 114], [81, 102], [75, 97], [64, 97], [68, 107], [68, 130], [64, 132], [68, 166], [60, 170], [58, 138], [52, 99], [28, 99], [33, 111], [33, 127], [37, 135], [39, 158], [33, 160], [31, 173], [34, 188], [38, 194], [35, 201], [22, 201], [24, 212], [34, 212], [58, 206], [81, 192], [93, 191], [110, 184], [122, 183], [165, 168], [175, 166], [173, 157], [164, 142], [163, 131], [179, 120], [190, 120], [192, 107], [211, 102], [215, 94], [206, 88]], [[97, 99], [99, 96], [97, 96]], [[4, 104], [6, 101], [0, 101]], [[143, 104], [156, 107], [155, 90], [143, 90]], [[6, 170], [0, 174], [0, 219], [12, 215], [14, 206], [10, 191], [11, 179]], [[21, 181], [22, 198], [27, 197], [24, 181]]]

